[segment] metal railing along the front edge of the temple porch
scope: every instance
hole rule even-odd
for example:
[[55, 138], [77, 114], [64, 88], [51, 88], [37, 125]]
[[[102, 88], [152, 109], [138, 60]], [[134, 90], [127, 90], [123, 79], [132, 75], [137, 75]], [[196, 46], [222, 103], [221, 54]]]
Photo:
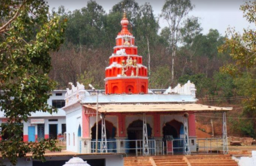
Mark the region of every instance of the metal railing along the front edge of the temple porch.
[[[149, 155], [184, 154], [184, 139], [174, 140], [148, 140]], [[95, 153], [95, 141], [91, 141], [88, 153]], [[222, 138], [190, 138], [190, 151], [192, 153], [219, 154], [223, 150]], [[193, 150], [191, 150], [193, 149]], [[98, 153], [125, 153], [143, 156], [143, 140], [107, 140], [107, 151], [102, 150], [102, 142], [98, 141]]]

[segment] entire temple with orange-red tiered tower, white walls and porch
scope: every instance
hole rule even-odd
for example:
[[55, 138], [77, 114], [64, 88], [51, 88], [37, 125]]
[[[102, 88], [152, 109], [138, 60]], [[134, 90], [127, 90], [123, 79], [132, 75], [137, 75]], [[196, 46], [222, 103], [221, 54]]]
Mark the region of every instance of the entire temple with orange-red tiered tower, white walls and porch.
[[62, 108], [66, 112], [66, 150], [190, 154], [196, 152], [196, 113], [221, 112], [223, 153], [227, 154], [226, 111], [231, 108], [196, 104], [196, 86], [189, 80], [174, 88], [148, 89], [147, 66], [128, 30], [125, 13], [120, 24], [122, 30], [105, 68], [105, 89], [86, 90], [79, 82], [67, 89]]

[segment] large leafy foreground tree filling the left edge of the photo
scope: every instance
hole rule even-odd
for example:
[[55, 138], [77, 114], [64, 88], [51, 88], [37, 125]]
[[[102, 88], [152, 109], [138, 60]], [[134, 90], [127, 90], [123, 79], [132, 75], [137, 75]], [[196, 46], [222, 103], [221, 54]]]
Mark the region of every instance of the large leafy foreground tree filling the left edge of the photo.
[[0, 18], [0, 106], [8, 118], [1, 134], [13, 133], [1, 140], [1, 156], [13, 165], [30, 152], [33, 158], [44, 160], [47, 149], [59, 150], [55, 141], [23, 142], [17, 124], [27, 122], [35, 111], [55, 111], [47, 104], [55, 89], [48, 77], [49, 52], [64, 42], [66, 20], [48, 15], [48, 5], [39, 0], [0, 1]]

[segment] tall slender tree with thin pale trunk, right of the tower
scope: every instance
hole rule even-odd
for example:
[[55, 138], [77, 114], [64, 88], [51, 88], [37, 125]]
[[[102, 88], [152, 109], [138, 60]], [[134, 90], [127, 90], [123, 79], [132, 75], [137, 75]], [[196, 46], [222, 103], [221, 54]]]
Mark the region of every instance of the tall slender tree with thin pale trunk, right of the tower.
[[181, 37], [181, 21], [188, 12], [193, 9], [190, 0], [166, 0], [162, 9], [161, 17], [167, 21], [170, 28], [170, 48], [172, 49], [172, 75], [171, 80], [174, 81], [174, 57], [178, 42]]

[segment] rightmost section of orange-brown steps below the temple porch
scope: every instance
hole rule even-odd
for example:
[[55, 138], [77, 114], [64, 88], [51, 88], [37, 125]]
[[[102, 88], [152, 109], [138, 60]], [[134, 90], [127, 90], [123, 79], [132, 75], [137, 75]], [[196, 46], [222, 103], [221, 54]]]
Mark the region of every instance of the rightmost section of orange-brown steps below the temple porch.
[[191, 166], [238, 166], [229, 155], [187, 156]]

